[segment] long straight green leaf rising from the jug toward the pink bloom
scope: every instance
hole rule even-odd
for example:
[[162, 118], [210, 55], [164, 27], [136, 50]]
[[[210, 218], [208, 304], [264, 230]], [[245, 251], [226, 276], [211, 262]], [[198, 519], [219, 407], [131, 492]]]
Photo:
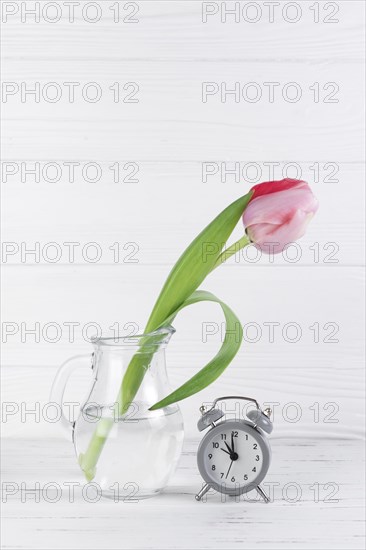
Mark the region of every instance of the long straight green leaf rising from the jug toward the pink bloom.
[[212, 271], [252, 194], [247, 193], [225, 208], [183, 252], [160, 292], [145, 333], [161, 326]]

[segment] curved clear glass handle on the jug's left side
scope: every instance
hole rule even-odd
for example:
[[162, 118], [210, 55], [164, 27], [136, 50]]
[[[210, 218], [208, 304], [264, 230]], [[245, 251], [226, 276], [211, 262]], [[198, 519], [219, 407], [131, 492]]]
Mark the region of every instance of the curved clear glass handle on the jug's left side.
[[63, 430], [66, 432], [69, 439], [72, 439], [74, 422], [69, 420], [63, 411], [63, 398], [65, 393], [66, 384], [71, 374], [78, 368], [93, 368], [93, 354], [88, 355], [75, 355], [71, 357], [61, 365], [58, 369], [55, 379], [52, 384], [50, 402], [56, 403], [61, 409], [60, 423]]

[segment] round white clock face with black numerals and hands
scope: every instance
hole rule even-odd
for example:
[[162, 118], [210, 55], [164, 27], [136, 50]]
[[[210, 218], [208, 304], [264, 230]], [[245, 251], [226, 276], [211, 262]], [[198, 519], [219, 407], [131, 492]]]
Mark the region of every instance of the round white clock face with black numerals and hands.
[[270, 450], [252, 426], [228, 421], [212, 428], [198, 451], [198, 467], [207, 483], [224, 493], [239, 494], [258, 485], [267, 473]]

